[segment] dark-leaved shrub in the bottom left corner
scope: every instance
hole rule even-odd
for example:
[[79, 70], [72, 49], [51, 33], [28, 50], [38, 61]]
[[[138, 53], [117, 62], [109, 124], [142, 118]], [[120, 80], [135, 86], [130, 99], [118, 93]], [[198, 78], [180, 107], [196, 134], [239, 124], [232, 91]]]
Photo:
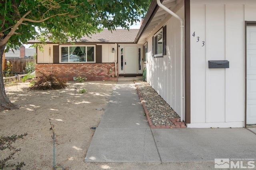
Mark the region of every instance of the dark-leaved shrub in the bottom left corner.
[[[15, 170], [20, 170], [23, 166], [25, 166], [24, 162], [18, 162], [17, 164], [9, 164], [8, 160], [14, 159], [14, 154], [20, 149], [16, 149], [12, 146], [12, 143], [15, 143], [17, 139], [23, 139], [24, 136], [28, 135], [27, 133], [23, 135], [12, 135], [11, 137], [0, 137], [0, 151], [8, 149], [8, 157], [0, 160], [0, 169], [12, 168], [15, 167]], [[14, 168], [12, 168], [14, 169]]]

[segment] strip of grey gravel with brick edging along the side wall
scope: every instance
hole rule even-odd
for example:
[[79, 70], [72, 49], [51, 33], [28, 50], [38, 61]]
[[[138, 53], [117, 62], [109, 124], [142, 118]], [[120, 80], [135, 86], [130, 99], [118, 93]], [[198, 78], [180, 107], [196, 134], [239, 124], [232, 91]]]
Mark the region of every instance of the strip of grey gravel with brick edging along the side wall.
[[169, 118], [179, 118], [179, 115], [172, 107], [147, 82], [141, 80], [134, 82], [148, 110], [152, 125], [172, 125]]

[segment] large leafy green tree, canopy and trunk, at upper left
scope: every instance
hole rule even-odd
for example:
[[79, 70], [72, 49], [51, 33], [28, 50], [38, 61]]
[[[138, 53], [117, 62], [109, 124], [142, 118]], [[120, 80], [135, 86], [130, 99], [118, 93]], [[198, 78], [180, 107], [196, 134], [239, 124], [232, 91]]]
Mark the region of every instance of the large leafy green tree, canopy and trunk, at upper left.
[[[6, 47], [29, 40], [75, 42], [103, 28], [128, 29], [146, 14], [150, 0], [0, 0], [0, 70]], [[8, 100], [0, 74], [0, 110], [15, 106]]]

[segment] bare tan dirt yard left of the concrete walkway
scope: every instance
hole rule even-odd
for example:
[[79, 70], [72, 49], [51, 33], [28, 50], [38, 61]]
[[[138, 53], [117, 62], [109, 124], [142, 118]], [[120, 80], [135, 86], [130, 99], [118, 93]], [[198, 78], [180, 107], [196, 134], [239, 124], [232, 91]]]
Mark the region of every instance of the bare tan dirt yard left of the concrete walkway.
[[[183, 163], [85, 163], [84, 158], [104, 113], [116, 82], [69, 82], [62, 90], [30, 90], [28, 83], [6, 87], [10, 100], [20, 109], [0, 112], [0, 136], [21, 135], [24, 139], [14, 146], [21, 151], [14, 155], [13, 163], [25, 162], [24, 170], [51, 170], [53, 141], [49, 118], [56, 133], [56, 165], [65, 170], [159, 170], [159, 169], [211, 169], [212, 162]], [[87, 93], [78, 93], [86, 88]], [[98, 108], [102, 110], [97, 110]], [[171, 153], [170, 153], [171, 154]], [[0, 152], [0, 159], [4, 153]]]

